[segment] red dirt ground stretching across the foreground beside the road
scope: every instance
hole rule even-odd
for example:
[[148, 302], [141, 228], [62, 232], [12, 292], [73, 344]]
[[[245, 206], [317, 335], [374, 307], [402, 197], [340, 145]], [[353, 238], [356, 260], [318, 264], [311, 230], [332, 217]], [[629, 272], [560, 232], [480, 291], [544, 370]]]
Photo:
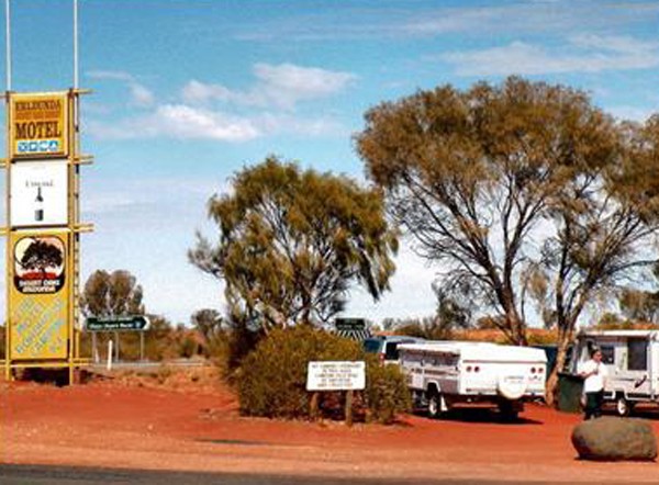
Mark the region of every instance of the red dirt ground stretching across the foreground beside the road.
[[[200, 371], [196, 371], [200, 372]], [[656, 463], [593, 463], [570, 444], [580, 416], [527, 406], [516, 424], [463, 413], [394, 426], [241, 417], [196, 377], [70, 387], [0, 383], [0, 462], [390, 478], [659, 482]], [[165, 382], [164, 381], [169, 381]], [[659, 430], [659, 419], [652, 421]]]

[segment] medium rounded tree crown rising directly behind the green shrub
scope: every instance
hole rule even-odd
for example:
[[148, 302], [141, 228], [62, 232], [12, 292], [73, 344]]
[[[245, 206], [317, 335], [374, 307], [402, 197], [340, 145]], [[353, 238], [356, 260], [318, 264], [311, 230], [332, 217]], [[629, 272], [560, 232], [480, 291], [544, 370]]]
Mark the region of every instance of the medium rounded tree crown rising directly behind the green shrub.
[[230, 313], [259, 329], [321, 324], [343, 311], [351, 284], [389, 289], [398, 233], [377, 189], [268, 157], [214, 195], [215, 244], [199, 236], [193, 264], [224, 282]]

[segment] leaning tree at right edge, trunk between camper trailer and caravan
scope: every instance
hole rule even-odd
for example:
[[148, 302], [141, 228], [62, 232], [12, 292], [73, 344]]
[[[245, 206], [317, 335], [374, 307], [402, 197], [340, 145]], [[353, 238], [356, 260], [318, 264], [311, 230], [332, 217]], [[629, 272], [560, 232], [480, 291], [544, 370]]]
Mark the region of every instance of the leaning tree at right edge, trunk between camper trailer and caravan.
[[659, 117], [640, 126], [619, 124], [612, 136], [616, 156], [571, 179], [550, 213], [556, 233], [545, 240], [539, 266], [550, 282], [544, 302], [558, 330], [549, 401], [583, 309], [650, 273], [657, 260]]

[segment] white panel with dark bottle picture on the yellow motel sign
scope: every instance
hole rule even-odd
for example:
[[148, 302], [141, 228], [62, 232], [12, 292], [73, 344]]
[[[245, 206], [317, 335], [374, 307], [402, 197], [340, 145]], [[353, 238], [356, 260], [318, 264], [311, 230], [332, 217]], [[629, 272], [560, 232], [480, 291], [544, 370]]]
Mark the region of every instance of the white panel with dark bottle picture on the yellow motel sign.
[[66, 161], [21, 161], [11, 166], [13, 227], [68, 224]]

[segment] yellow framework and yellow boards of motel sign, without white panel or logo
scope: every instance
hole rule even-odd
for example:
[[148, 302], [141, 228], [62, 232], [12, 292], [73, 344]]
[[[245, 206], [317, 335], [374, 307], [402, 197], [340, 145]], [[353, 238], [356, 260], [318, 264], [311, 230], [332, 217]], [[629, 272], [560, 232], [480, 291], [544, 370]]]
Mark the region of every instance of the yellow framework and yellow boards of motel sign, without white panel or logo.
[[[79, 325], [79, 258], [80, 258], [80, 233], [92, 230], [90, 224], [80, 223], [80, 165], [91, 163], [92, 157], [80, 154], [79, 143], [79, 104], [80, 95], [89, 93], [88, 90], [70, 89], [62, 92], [47, 93], [15, 93], [5, 92], [8, 110], [7, 115], [7, 153], [8, 158], [3, 163], [7, 169], [5, 177], [5, 221], [7, 226], [2, 233], [7, 236], [5, 245], [5, 360], [4, 375], [7, 380], [13, 377], [13, 370], [24, 368], [51, 368], [68, 369], [69, 383], [75, 381], [75, 370], [89, 363], [89, 359], [80, 358], [80, 331]], [[16, 125], [13, 123], [16, 112], [20, 110], [37, 113], [40, 104], [20, 105], [18, 103], [58, 101], [52, 113], [41, 116], [41, 120], [49, 120], [59, 123], [62, 129], [43, 133], [36, 131], [36, 135], [56, 134], [58, 137], [57, 150], [36, 153], [18, 153]], [[19, 108], [19, 110], [16, 110]], [[55, 113], [57, 112], [57, 113]], [[53, 119], [47, 115], [52, 114]], [[55, 115], [56, 114], [56, 115]], [[38, 116], [36, 116], [38, 117]], [[35, 117], [35, 119], [36, 119]], [[57, 120], [55, 120], [57, 119]], [[26, 117], [24, 117], [26, 120]], [[36, 128], [35, 128], [36, 129]], [[60, 137], [60, 138], [59, 138]], [[48, 137], [46, 137], [46, 140]], [[47, 147], [46, 147], [47, 148]], [[11, 221], [11, 178], [12, 167], [26, 160], [37, 162], [53, 162], [54, 159], [66, 161], [67, 165], [67, 218], [65, 224], [57, 226], [43, 226], [31, 228], [15, 228]], [[14, 246], [25, 237], [59, 238], [64, 243], [63, 271], [65, 280], [63, 286], [49, 294], [21, 293], [14, 285]], [[46, 284], [44, 283], [44, 287]], [[29, 292], [27, 292], [29, 293]], [[47, 293], [47, 291], [46, 291]], [[51, 308], [49, 311], [47, 308]], [[44, 318], [42, 312], [46, 308], [47, 316]], [[49, 315], [49, 316], [48, 316]], [[41, 318], [40, 318], [41, 316]], [[64, 318], [65, 325], [62, 325]], [[57, 319], [58, 324], [49, 320]], [[35, 345], [36, 340], [44, 340], [44, 345]]]

